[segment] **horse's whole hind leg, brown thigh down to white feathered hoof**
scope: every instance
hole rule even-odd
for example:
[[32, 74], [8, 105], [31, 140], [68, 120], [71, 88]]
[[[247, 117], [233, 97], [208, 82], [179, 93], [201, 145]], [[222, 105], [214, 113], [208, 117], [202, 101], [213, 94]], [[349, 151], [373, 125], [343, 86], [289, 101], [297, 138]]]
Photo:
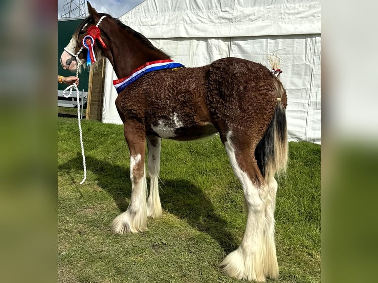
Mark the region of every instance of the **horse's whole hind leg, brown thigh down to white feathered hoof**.
[[[274, 183], [270, 189], [254, 157], [256, 145], [249, 139], [250, 137], [241, 131], [228, 132], [222, 139], [233, 171], [243, 187], [248, 218], [240, 246], [227, 255], [220, 266], [229, 276], [263, 282], [265, 277], [278, 276], [272, 214], [274, 207], [270, 204], [273, 200], [273, 194], [270, 195], [270, 192], [274, 191]], [[271, 251], [273, 248], [274, 252]]]

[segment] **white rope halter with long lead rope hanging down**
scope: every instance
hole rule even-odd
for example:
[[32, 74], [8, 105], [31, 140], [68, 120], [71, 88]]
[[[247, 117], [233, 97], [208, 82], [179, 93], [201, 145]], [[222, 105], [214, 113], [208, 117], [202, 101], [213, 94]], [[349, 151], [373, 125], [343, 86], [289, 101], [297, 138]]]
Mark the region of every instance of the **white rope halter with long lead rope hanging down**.
[[[101, 18], [100, 18], [100, 20], [98, 21], [98, 23], [97, 23], [97, 25], [96, 25], [96, 28], [98, 29], [98, 26], [100, 25], [100, 23], [101, 23], [101, 21], [105, 18], [106, 16], [102, 16]], [[84, 27], [83, 27], [83, 29], [85, 28], [87, 26], [87, 24], [85, 24], [84, 25]], [[94, 26], [93, 26], [94, 27]], [[90, 27], [89, 27], [90, 28]], [[89, 29], [88, 28], [88, 29]], [[91, 30], [90, 30], [91, 31]], [[90, 32], [89, 31], [89, 32]], [[93, 29], [92, 29], [92, 31], [93, 31]], [[96, 34], [95, 35], [95, 38], [93, 38], [91, 35], [87, 35], [87, 36], [91, 36], [92, 37], [92, 39], [93, 39], [93, 43], [94, 43], [94, 40], [95, 39], [98, 39], [98, 38], [100, 38], [100, 33], [99, 33], [99, 31], [100, 30], [98, 30], [98, 34]], [[97, 30], [96, 30], [96, 32], [97, 32]], [[92, 33], [93, 34], [93, 33]], [[98, 35], [98, 36], [97, 36]], [[85, 36], [85, 37], [87, 37], [87, 36]], [[85, 38], [84, 37], [84, 38]], [[100, 43], [102, 43], [102, 45], [103, 45], [103, 47], [104, 48], [106, 48], [106, 46], [105, 46], [105, 44], [104, 44], [104, 42], [102, 41], [102, 39], [100, 38]], [[93, 45], [93, 44], [92, 44]], [[77, 54], [73, 54], [71, 51], [69, 51], [69, 50], [67, 50], [66, 49], [66, 47], [64, 48], [64, 51], [66, 51], [68, 54], [70, 54], [71, 56], [74, 56], [75, 58], [76, 58], [76, 62], [77, 62], [77, 67], [76, 67], [76, 77], [78, 77], [79, 76], [79, 70], [80, 70], [80, 65], [81, 65], [81, 62], [80, 62], [80, 60], [79, 60], [79, 54], [81, 53], [81, 51], [83, 51], [83, 48], [84, 48], [84, 44], [83, 44], [83, 46], [81, 46], [81, 48], [80, 48], [80, 50], [77, 52]], [[93, 49], [92, 49], [93, 50]], [[88, 54], [89, 54], [89, 50], [88, 50]], [[94, 53], [93, 53], [93, 55], [94, 55]], [[80, 182], [80, 185], [82, 185], [84, 182], [85, 182], [85, 180], [86, 180], [86, 178], [87, 178], [87, 168], [86, 168], [86, 164], [85, 164], [85, 154], [84, 154], [84, 144], [83, 144], [83, 134], [82, 134], [82, 129], [81, 129], [81, 119], [80, 119], [80, 94], [79, 94], [79, 89], [78, 89], [78, 87], [77, 87], [77, 85], [76, 85], [76, 83], [74, 82], [72, 85], [70, 85], [70, 86], [68, 86], [68, 87], [66, 87], [65, 88], [65, 90], [63, 91], [63, 96], [64, 97], [70, 97], [71, 95], [72, 95], [72, 90], [73, 90], [73, 88], [75, 88], [76, 89], [76, 97], [77, 97], [77, 120], [78, 120], [78, 123], [79, 123], [79, 132], [80, 132], [80, 145], [81, 145], [81, 154], [82, 154], [82, 156], [83, 156], [83, 166], [84, 166], [84, 178], [83, 178], [83, 180]], [[66, 93], [66, 91], [67, 90], [70, 90], [70, 93], [68, 94], [68, 95], [66, 95], [65, 93]]]

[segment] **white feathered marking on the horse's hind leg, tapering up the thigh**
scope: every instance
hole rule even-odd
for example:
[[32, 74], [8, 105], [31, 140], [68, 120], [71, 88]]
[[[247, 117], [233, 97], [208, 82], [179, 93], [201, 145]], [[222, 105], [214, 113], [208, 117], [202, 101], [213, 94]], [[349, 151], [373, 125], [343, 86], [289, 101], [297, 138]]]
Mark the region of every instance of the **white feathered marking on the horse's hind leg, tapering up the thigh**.
[[[244, 237], [239, 248], [227, 255], [220, 265], [223, 271], [229, 276], [242, 280], [264, 282], [265, 276], [278, 275], [278, 270], [277, 273], [273, 270], [274, 268], [272, 266], [274, 266], [274, 264], [269, 262], [272, 260], [271, 257], [273, 257], [271, 249], [274, 243], [271, 243], [270, 236], [269, 240], [265, 239], [265, 233], [269, 230], [269, 227], [271, 228], [268, 222], [271, 219], [274, 221], [274, 218], [271, 218], [271, 206], [269, 209], [269, 217], [265, 215], [265, 203], [268, 199], [269, 192], [266, 187], [256, 187], [250, 177], [248, 177], [248, 174], [240, 168], [236, 160], [235, 149], [230, 141], [230, 136], [231, 133], [228, 133], [225, 149], [235, 175], [243, 186], [248, 218]], [[269, 231], [271, 231], [271, 229]], [[269, 248], [266, 248], [266, 245], [268, 245]], [[270, 272], [268, 272], [268, 270], [270, 270]]]

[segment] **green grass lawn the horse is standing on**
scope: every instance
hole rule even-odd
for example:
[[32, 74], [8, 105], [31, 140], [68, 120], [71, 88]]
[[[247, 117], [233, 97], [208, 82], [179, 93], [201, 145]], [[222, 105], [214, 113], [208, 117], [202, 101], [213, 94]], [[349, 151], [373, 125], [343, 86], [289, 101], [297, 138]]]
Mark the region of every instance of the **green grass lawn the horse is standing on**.
[[[163, 218], [149, 230], [117, 235], [110, 223], [126, 210], [131, 183], [121, 125], [58, 118], [58, 282], [241, 282], [218, 264], [243, 237], [241, 185], [218, 136], [162, 141]], [[320, 145], [289, 144], [286, 177], [278, 180], [275, 213], [280, 278], [320, 282]]]

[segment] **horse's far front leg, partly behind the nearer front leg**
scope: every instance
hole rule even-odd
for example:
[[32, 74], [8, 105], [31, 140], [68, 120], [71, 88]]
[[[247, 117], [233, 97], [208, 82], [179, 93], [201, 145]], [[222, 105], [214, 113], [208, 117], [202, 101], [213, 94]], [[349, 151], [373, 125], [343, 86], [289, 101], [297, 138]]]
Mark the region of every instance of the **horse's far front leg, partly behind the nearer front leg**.
[[147, 166], [150, 177], [150, 195], [147, 199], [147, 216], [161, 218], [162, 210], [159, 196], [160, 148], [161, 138], [147, 137], [148, 157]]

